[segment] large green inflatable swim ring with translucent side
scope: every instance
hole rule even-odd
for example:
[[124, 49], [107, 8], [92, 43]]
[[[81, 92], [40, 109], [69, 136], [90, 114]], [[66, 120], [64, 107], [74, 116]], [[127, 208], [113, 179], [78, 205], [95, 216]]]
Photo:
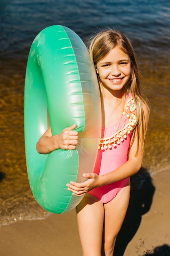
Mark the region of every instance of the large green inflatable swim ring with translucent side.
[[[26, 67], [24, 134], [28, 180], [44, 209], [63, 213], [81, 201], [66, 183], [83, 182], [82, 174], [93, 171], [100, 111], [96, 72], [81, 38], [59, 25], [42, 30], [31, 45]], [[52, 135], [76, 124], [76, 149], [38, 154], [35, 145], [49, 124]]]

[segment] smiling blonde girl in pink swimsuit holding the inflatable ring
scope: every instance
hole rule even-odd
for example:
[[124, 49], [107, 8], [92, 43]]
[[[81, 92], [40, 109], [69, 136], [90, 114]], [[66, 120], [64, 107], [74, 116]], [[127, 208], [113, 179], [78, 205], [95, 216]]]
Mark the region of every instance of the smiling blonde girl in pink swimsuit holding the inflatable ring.
[[[67, 186], [74, 195], [85, 195], [76, 207], [83, 256], [113, 256], [129, 204], [129, 177], [142, 164], [149, 108], [126, 36], [112, 29], [100, 31], [91, 39], [89, 52], [100, 88], [102, 138], [94, 172], [83, 174], [87, 181]], [[49, 128], [37, 142], [37, 151], [74, 149], [78, 142], [74, 128], [76, 124], [54, 136]]]

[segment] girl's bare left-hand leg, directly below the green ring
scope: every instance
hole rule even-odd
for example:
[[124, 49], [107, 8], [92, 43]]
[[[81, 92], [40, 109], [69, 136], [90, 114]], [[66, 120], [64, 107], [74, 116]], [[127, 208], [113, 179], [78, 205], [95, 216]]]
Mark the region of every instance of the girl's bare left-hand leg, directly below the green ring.
[[83, 256], [101, 256], [103, 203], [94, 196], [86, 194], [76, 211]]

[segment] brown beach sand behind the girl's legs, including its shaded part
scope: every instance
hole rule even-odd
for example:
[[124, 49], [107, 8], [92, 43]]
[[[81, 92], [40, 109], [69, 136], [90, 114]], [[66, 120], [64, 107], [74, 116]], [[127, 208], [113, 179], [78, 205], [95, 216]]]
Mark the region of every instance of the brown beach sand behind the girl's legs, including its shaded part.
[[[114, 256], [170, 255], [169, 180], [169, 171], [147, 175], [142, 188], [131, 191]], [[1, 256], [82, 255], [75, 210], [2, 226], [0, 242]]]

